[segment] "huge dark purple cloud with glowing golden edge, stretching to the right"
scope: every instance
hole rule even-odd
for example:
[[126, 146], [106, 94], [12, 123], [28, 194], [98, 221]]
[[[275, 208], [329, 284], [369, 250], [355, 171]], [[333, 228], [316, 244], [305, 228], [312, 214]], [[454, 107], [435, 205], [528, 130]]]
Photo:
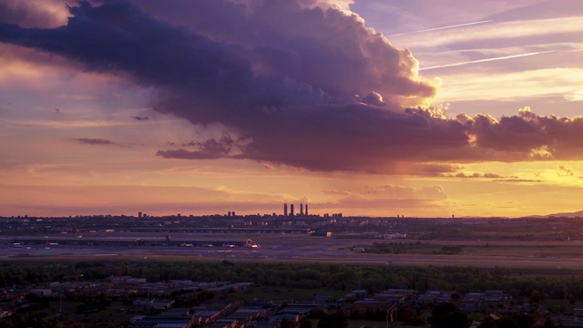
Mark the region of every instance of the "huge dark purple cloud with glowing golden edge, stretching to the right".
[[333, 6], [164, 2], [167, 15], [170, 7], [189, 14], [188, 24], [177, 27], [156, 16], [164, 12], [159, 2], [138, 3], [144, 7], [80, 2], [58, 28], [0, 24], [0, 42], [125, 75], [157, 90], [156, 110], [219, 124], [233, 136], [198, 141], [194, 149], [162, 149], [165, 158], [438, 174], [455, 170], [447, 163], [583, 153], [578, 118], [524, 110], [498, 121], [404, 109], [433, 97], [435, 87], [416, 76], [406, 49]]

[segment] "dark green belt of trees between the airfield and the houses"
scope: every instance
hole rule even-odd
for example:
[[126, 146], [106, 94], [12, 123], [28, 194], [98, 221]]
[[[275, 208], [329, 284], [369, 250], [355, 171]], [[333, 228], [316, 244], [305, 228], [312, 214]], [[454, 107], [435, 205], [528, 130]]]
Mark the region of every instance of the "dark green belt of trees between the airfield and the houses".
[[550, 298], [583, 298], [583, 277], [528, 274], [507, 269], [479, 269], [454, 266], [388, 267], [339, 263], [234, 263], [82, 261], [77, 263], [5, 262], [0, 264], [0, 287], [62, 281], [83, 274], [84, 280], [131, 275], [148, 282], [191, 280], [198, 282], [255, 282], [290, 288], [329, 288], [339, 291], [387, 288], [424, 292], [440, 289], [460, 293], [502, 290], [512, 296], [530, 297], [541, 292]]

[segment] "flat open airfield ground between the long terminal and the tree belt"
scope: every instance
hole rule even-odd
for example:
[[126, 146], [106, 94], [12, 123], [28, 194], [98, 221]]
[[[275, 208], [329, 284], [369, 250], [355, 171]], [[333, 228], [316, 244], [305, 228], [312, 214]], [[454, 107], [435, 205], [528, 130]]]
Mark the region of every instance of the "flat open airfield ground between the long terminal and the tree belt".
[[[128, 237], [125, 234], [124, 237]], [[177, 237], [179, 237], [177, 235]], [[209, 234], [189, 238], [210, 238]], [[176, 261], [298, 261], [345, 262], [382, 265], [460, 265], [508, 268], [583, 269], [581, 241], [414, 241], [336, 239], [304, 234], [212, 234], [213, 238], [251, 239], [259, 249], [247, 247], [95, 247], [32, 245], [15, 247], [0, 241], [0, 261], [176, 260]], [[406, 253], [373, 254], [352, 251], [373, 242], [410, 244]], [[436, 254], [444, 246], [462, 246], [455, 255]]]

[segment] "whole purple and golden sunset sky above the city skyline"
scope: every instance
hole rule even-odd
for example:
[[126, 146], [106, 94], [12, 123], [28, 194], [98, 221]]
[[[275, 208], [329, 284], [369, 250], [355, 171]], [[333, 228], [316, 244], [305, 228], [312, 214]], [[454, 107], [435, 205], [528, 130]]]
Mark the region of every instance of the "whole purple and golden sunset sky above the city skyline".
[[0, 2], [0, 216], [583, 210], [583, 2]]

